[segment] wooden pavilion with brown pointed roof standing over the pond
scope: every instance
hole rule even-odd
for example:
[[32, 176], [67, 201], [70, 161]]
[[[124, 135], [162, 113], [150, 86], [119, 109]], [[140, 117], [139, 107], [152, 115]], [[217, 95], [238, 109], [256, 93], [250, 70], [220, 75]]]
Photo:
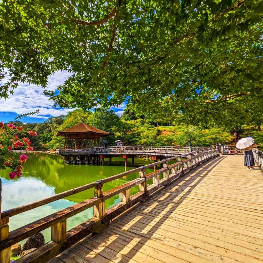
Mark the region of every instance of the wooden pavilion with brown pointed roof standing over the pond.
[[65, 137], [65, 148], [89, 148], [100, 146], [100, 138], [110, 134], [84, 123], [82, 118], [81, 123], [58, 131], [57, 136]]

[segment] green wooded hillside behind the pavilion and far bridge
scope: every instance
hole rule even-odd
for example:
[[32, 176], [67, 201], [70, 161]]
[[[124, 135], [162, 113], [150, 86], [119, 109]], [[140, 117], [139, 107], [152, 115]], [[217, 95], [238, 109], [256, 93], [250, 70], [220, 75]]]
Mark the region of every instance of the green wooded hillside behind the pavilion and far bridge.
[[[263, 132], [255, 123], [254, 126], [243, 125], [232, 118], [232, 126], [223, 126], [222, 123], [214, 123], [210, 126], [205, 123], [192, 125], [185, 122], [184, 115], [170, 117], [170, 122], [165, 122], [157, 116], [146, 118], [127, 107], [121, 117], [111, 109], [96, 109], [95, 112], [77, 109], [67, 115], [52, 117], [43, 123], [27, 123], [24, 130], [18, 134], [24, 136], [28, 130], [37, 132], [37, 136], [31, 136], [32, 146], [35, 149], [54, 149], [64, 146], [64, 138], [57, 136], [60, 130], [72, 127], [84, 120], [85, 123], [112, 133], [108, 137], [109, 145], [115, 145], [115, 140], [121, 139], [124, 145], [164, 145], [164, 146], [188, 146], [199, 144], [203, 147], [215, 145], [217, 142], [233, 145], [234, 131], [239, 136], [254, 136], [257, 144], [263, 146]], [[21, 122], [12, 122], [16, 125]], [[30, 135], [29, 135], [30, 136]]]

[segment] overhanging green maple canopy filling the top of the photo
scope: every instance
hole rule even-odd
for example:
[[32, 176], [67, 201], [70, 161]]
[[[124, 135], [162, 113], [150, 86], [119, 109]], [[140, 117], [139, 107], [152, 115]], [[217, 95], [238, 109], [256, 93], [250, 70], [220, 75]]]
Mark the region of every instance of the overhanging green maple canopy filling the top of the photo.
[[4, 0], [0, 96], [67, 70], [59, 93], [45, 91], [60, 107], [262, 102], [262, 11], [253, 0]]

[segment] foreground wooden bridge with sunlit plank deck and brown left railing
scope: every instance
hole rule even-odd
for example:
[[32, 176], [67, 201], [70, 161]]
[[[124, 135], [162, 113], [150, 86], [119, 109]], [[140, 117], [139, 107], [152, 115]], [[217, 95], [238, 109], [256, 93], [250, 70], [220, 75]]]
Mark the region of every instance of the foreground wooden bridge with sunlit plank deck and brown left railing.
[[[220, 156], [211, 148], [3, 211], [1, 262], [9, 262], [11, 245], [48, 227], [52, 240], [17, 263], [262, 262], [263, 153], [253, 152], [259, 164], [254, 170], [244, 168], [242, 156]], [[145, 174], [159, 164], [163, 168]], [[138, 171], [139, 178], [103, 193], [103, 184]], [[139, 192], [130, 196], [129, 189], [138, 184]], [[92, 187], [95, 198], [8, 231], [10, 217]], [[121, 202], [105, 211], [105, 200], [119, 194]], [[92, 219], [66, 230], [67, 218], [92, 206]]]

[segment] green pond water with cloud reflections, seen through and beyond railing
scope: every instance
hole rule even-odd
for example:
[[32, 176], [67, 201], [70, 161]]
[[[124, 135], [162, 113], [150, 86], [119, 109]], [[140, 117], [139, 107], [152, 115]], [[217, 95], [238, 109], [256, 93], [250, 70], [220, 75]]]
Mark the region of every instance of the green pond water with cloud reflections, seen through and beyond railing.
[[[24, 165], [22, 177], [11, 180], [8, 177], [9, 168], [0, 170], [2, 179], [2, 211], [25, 205], [39, 199], [70, 190], [72, 188], [88, 184], [125, 171], [124, 159], [113, 158], [112, 165], [105, 159], [105, 165], [70, 165], [65, 164], [64, 159], [58, 155], [27, 154], [28, 160]], [[19, 155], [18, 155], [19, 156]], [[128, 159], [129, 160], [129, 159]], [[131, 159], [130, 159], [131, 160]], [[152, 163], [151, 160], [135, 158], [135, 166]], [[134, 169], [128, 162], [127, 170]], [[152, 170], [146, 170], [150, 173]], [[103, 185], [107, 191], [139, 177], [134, 173]], [[152, 183], [151, 180], [148, 181]], [[130, 189], [130, 195], [139, 191], [139, 186]], [[61, 209], [72, 206], [85, 199], [94, 196], [94, 189], [89, 189], [67, 198], [54, 201], [38, 208], [26, 211], [10, 218], [9, 230], [17, 229], [23, 225], [41, 219], [44, 216], [55, 213]], [[114, 196], [105, 201], [105, 209], [120, 202], [120, 196]], [[67, 230], [83, 223], [93, 217], [93, 208], [87, 209], [67, 219]], [[51, 229], [42, 231], [45, 242], [51, 238]], [[20, 242], [21, 244], [24, 243]]]

